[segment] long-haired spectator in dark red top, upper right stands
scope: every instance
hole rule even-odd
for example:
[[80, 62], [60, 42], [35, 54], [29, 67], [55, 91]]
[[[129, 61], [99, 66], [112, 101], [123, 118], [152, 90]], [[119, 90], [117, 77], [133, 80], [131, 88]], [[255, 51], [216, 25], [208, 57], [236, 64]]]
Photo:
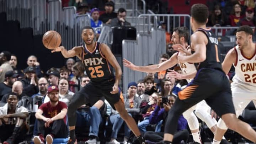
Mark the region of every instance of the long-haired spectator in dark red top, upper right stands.
[[236, 26], [236, 24], [244, 18], [244, 15], [241, 14], [241, 6], [239, 4], [235, 4], [231, 15], [229, 16], [229, 22], [231, 26]]

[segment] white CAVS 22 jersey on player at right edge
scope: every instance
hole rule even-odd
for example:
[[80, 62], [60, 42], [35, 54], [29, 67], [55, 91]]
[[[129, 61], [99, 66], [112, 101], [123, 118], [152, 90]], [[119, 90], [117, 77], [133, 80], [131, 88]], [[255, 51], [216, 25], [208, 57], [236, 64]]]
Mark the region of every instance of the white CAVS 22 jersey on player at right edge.
[[242, 54], [242, 51], [235, 46], [236, 51], [236, 64], [235, 75], [231, 83], [232, 91], [239, 87], [245, 91], [256, 91], [256, 55], [255, 53], [251, 58], [247, 58]]

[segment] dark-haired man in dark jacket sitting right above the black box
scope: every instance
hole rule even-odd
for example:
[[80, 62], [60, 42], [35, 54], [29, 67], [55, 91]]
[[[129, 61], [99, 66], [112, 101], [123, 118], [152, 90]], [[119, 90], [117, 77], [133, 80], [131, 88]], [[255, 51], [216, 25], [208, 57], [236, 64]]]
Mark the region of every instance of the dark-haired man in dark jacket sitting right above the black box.
[[117, 11], [117, 18], [113, 18], [110, 22], [111, 27], [118, 26], [130, 26], [130, 23], [126, 21], [126, 10], [124, 8], [120, 8]]

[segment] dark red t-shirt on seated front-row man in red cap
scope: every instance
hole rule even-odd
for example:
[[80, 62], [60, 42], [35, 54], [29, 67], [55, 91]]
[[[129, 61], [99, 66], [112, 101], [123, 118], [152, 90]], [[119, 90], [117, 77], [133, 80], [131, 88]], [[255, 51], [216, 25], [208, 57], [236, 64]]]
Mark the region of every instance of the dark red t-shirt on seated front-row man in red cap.
[[[60, 111], [63, 108], [68, 109], [68, 106], [66, 106], [66, 103], [61, 102], [61, 101], [59, 101], [55, 107], [53, 107], [50, 104], [50, 102], [44, 103], [39, 107], [39, 109], [43, 111], [44, 116], [47, 118], [52, 118], [52, 117], [56, 116], [58, 113], [60, 113]], [[66, 117], [64, 117], [63, 120], [66, 123]]]

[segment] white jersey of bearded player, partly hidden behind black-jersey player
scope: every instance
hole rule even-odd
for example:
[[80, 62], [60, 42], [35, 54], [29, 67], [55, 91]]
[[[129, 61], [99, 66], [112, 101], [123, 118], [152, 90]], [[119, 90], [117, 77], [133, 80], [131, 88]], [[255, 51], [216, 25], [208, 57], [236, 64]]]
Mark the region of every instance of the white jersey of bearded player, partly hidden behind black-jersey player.
[[[190, 46], [187, 46], [186, 49], [189, 49]], [[181, 54], [180, 52], [177, 54], [179, 55]], [[194, 66], [193, 63], [188, 63], [188, 62], [184, 62], [184, 63], [179, 63], [182, 74], [190, 74], [193, 73], [194, 71], [196, 71], [196, 67]], [[190, 83], [193, 79], [186, 79], [188, 83]]]

